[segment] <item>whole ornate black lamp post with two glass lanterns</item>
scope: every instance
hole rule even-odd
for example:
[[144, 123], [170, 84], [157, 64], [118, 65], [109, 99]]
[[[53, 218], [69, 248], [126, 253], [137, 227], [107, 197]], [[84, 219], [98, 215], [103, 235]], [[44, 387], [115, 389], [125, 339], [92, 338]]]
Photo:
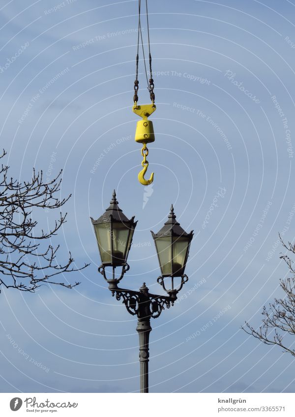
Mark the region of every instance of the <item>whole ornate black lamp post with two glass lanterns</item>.
[[[167, 296], [151, 294], [144, 282], [139, 291], [119, 288], [118, 283], [125, 272], [129, 270], [127, 257], [132, 243], [132, 237], [137, 222], [134, 217], [130, 220], [118, 207], [114, 190], [110, 207], [98, 219], [91, 222], [94, 227], [101, 265], [100, 274], [108, 282], [112, 296], [122, 300], [127, 311], [138, 318], [137, 332], [139, 334], [139, 361], [140, 361], [140, 392], [148, 392], [148, 339], [151, 331], [150, 318], [157, 318], [166, 308], [174, 305], [177, 293], [188, 277], [184, 274], [193, 231], [186, 233], [176, 220], [173, 206], [168, 217], [158, 233], [153, 233], [162, 275], [158, 282], [168, 294]], [[106, 267], [112, 267], [111, 278], [106, 275]], [[121, 267], [121, 273], [116, 277], [115, 269]], [[168, 278], [171, 278], [170, 288], [167, 289]], [[178, 283], [176, 282], [178, 280]]]

